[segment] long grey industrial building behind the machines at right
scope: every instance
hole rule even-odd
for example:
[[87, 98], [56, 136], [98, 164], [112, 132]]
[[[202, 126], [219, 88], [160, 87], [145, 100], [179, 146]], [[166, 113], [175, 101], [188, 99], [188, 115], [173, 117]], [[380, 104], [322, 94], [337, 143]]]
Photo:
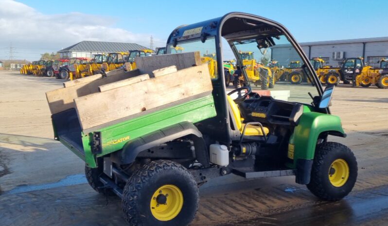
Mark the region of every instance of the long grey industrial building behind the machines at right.
[[[363, 57], [364, 64], [378, 67], [381, 58], [388, 58], [388, 37], [305, 42], [300, 46], [309, 59], [320, 57], [326, 61], [326, 65], [332, 66], [339, 66], [345, 58]], [[288, 66], [290, 61], [300, 60], [291, 49], [289, 45], [275, 46], [271, 59], [283, 66]]]

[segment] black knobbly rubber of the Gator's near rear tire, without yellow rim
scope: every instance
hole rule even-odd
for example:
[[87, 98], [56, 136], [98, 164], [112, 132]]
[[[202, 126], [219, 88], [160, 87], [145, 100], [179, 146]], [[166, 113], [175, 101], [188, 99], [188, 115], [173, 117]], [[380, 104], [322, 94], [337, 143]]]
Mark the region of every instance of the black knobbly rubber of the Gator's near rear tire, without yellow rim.
[[[176, 218], [180, 217], [180, 214], [183, 214], [183, 210], [187, 209], [187, 205], [185, 207], [185, 203], [183, 203], [183, 207], [181, 212], [171, 221], [158, 221], [157, 223], [153, 223], [153, 226], [184, 226], [190, 224], [194, 217], [195, 213], [198, 210], [198, 201], [199, 201], [199, 192], [198, 192], [198, 187], [195, 182], [195, 179], [193, 175], [182, 165], [179, 163], [176, 163], [174, 161], [169, 161], [169, 160], [156, 160], [156, 161], [151, 161], [148, 164], [144, 164], [141, 169], [139, 169], [137, 172], [135, 172], [127, 181], [124, 189], [123, 189], [123, 199], [122, 199], [122, 210], [124, 213], [124, 218], [126, 222], [130, 226], [147, 226], [148, 224], [142, 220], [147, 219], [147, 218], [154, 218], [151, 214], [151, 216], [146, 216], [143, 215], [142, 219], [139, 219], [139, 215], [143, 213], [141, 210], [138, 210], [139, 208], [137, 199], [141, 199], [141, 194], [139, 191], [144, 191], [146, 187], [150, 186], [147, 184], [147, 182], [150, 182], [153, 178], [155, 178], [159, 173], [162, 173], [164, 171], [176, 171], [179, 173], [182, 173], [184, 177], [189, 179], [191, 184], [188, 184], [191, 188], [194, 189], [196, 196], [195, 201], [194, 201], [194, 210], [189, 212], [188, 215], [184, 216], [184, 221], [180, 220], [179, 222], [171, 222], [173, 220], [176, 220]], [[179, 187], [179, 189], [181, 189]], [[150, 191], [152, 194], [155, 191]], [[183, 191], [182, 191], [183, 193]], [[144, 195], [144, 194], [143, 194]], [[183, 194], [185, 196], [185, 194]], [[185, 201], [184, 201], [185, 202]], [[193, 205], [193, 203], [191, 203]], [[146, 207], [149, 209], [149, 203], [145, 204]], [[190, 208], [190, 206], [189, 206]], [[140, 209], [140, 208], [139, 208]], [[144, 214], [144, 213], [143, 213]], [[156, 220], [156, 219], [155, 219]]]

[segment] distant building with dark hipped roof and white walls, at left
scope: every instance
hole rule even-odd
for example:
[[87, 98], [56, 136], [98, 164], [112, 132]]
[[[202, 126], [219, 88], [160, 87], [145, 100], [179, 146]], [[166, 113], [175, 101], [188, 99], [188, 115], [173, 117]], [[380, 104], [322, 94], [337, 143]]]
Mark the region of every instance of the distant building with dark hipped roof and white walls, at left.
[[58, 51], [60, 58], [86, 57], [110, 52], [127, 52], [129, 50], [149, 49], [136, 43], [82, 41]]

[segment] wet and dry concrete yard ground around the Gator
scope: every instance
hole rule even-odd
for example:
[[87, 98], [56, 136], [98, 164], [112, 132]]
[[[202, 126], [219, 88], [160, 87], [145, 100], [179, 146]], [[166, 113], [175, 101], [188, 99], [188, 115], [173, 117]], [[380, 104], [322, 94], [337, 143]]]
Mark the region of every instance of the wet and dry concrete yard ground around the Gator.
[[[123, 225], [120, 200], [96, 194], [85, 184], [83, 161], [53, 140], [45, 92], [63, 81], [9, 71], [0, 79], [0, 225]], [[275, 89], [310, 98], [308, 85]], [[331, 140], [351, 147], [358, 161], [358, 180], [344, 200], [320, 201], [293, 177], [229, 175], [201, 187], [192, 225], [387, 225], [387, 93], [335, 88], [331, 110], [348, 137]]]

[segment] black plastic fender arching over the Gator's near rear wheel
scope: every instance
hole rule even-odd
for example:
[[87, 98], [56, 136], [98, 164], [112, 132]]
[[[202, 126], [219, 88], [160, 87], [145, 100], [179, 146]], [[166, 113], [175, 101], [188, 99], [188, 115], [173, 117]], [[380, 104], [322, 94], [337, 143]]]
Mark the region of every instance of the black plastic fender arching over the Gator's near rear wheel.
[[185, 136], [190, 136], [194, 142], [196, 160], [203, 166], [209, 166], [209, 152], [202, 133], [190, 122], [178, 123], [128, 141], [122, 150], [111, 154], [111, 159], [118, 164], [129, 164], [135, 161], [141, 151]]

